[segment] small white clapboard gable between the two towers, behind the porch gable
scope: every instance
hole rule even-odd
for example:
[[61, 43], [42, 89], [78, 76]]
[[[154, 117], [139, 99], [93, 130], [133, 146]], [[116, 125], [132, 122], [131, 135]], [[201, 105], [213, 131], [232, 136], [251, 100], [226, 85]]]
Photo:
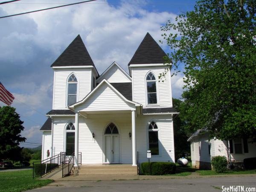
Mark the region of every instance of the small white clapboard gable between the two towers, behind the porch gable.
[[127, 74], [123, 72], [116, 64], [113, 66], [102, 76], [99, 78], [99, 83], [102, 79], [106, 79], [110, 83], [125, 83], [131, 82], [131, 79], [127, 77]]

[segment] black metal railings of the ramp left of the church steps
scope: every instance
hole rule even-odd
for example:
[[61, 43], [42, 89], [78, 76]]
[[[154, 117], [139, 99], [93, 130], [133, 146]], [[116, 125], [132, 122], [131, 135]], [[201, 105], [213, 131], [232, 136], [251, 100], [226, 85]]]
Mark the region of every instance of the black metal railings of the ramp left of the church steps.
[[[45, 160], [33, 162], [33, 179], [39, 176], [42, 177], [43, 175], [49, 172], [52, 172], [54, 169], [56, 169], [60, 165], [62, 165], [62, 177], [64, 177], [63, 175], [65, 176], [70, 175], [70, 172], [73, 168], [73, 166], [70, 167], [70, 164], [72, 163], [74, 165], [73, 160], [72, 162], [70, 162], [72, 158], [73, 160], [75, 160], [74, 154], [70, 156], [70, 155], [67, 155], [66, 152], [61, 152], [60, 154], [57, 154], [53, 157], [49, 157]], [[79, 152], [78, 163], [80, 165], [81, 165], [81, 161], [82, 161], [82, 153]], [[66, 172], [66, 166], [68, 167], [68, 172]]]

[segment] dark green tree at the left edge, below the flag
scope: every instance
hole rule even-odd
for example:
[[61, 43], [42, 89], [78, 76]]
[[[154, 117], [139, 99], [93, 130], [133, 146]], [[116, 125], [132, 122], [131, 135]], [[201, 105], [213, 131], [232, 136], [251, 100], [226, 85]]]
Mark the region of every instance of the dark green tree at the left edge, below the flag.
[[0, 159], [20, 160], [20, 142], [26, 140], [21, 137], [23, 121], [15, 108], [0, 107]]

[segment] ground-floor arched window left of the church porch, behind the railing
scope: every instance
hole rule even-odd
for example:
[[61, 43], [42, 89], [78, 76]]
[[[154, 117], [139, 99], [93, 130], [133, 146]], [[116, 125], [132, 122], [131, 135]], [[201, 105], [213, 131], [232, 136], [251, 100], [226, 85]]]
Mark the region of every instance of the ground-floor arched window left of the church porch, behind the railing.
[[75, 152], [75, 126], [69, 123], [66, 127], [66, 154], [71, 155]]

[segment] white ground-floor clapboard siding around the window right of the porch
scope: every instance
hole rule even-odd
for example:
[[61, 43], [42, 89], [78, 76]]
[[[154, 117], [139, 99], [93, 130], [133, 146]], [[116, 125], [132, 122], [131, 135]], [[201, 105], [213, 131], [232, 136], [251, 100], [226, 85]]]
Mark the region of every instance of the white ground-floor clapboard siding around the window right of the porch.
[[159, 128], [159, 150], [160, 154], [152, 156], [151, 161], [175, 162], [173, 124], [170, 115], [161, 116], [139, 116], [136, 119], [136, 144], [139, 151], [139, 162], [146, 162], [148, 150], [148, 123], [154, 121]]

